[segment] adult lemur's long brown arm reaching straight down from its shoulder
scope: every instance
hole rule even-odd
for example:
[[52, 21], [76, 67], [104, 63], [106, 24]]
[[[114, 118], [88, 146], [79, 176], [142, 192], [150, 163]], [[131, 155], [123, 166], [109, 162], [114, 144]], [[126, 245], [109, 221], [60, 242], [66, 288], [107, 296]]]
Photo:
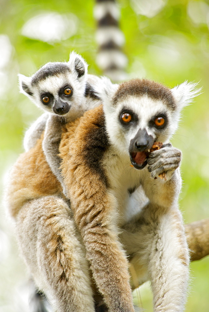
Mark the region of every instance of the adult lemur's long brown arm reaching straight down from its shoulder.
[[117, 203], [100, 166], [107, 148], [102, 114], [99, 107], [66, 124], [60, 144], [62, 176], [99, 292], [111, 312], [134, 312], [128, 261], [115, 226]]

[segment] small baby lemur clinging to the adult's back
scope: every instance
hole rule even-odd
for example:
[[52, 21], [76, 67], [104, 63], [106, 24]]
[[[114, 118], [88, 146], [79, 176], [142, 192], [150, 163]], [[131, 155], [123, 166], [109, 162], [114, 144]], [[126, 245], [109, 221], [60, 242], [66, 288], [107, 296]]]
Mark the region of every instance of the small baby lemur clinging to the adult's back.
[[74, 120], [84, 111], [101, 104], [94, 90], [94, 86], [99, 83], [99, 77], [87, 74], [86, 62], [75, 52], [70, 54], [68, 62], [47, 63], [31, 77], [19, 74], [20, 91], [45, 111], [26, 132], [25, 150], [35, 146], [45, 127], [47, 133], [49, 123], [57, 123], [56, 133], [50, 138], [45, 136], [43, 141], [43, 151], [47, 151], [46, 157], [54, 173], [57, 173], [53, 168], [59, 164], [59, 157], [51, 156], [54, 155], [55, 148], [55, 154], [58, 154], [60, 124]]

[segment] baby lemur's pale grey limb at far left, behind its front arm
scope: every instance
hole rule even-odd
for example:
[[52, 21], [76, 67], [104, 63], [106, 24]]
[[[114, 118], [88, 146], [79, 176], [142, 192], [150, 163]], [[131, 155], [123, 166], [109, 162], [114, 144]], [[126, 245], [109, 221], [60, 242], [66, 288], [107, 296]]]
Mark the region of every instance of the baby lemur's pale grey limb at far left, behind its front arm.
[[32, 149], [36, 145], [37, 140], [40, 139], [49, 115], [49, 113], [42, 114], [26, 131], [23, 142], [26, 152]]

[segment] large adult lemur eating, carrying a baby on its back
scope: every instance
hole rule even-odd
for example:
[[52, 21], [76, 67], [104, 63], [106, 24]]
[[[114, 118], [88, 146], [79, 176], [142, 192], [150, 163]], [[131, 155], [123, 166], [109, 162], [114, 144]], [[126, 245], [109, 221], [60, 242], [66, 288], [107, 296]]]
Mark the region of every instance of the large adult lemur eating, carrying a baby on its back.
[[[89, 265], [109, 311], [134, 311], [125, 253], [139, 284], [151, 280], [154, 311], [183, 311], [189, 255], [178, 209], [181, 152], [165, 145], [145, 155], [154, 141], [167, 143], [198, 90], [140, 79], [103, 79], [99, 87], [104, 107], [62, 125], [61, 175], [73, 216], [44, 157], [43, 135], [13, 167], [7, 199], [23, 256], [56, 311], [94, 311]], [[154, 179], [162, 172], [166, 181]], [[133, 206], [138, 214], [129, 219]]]

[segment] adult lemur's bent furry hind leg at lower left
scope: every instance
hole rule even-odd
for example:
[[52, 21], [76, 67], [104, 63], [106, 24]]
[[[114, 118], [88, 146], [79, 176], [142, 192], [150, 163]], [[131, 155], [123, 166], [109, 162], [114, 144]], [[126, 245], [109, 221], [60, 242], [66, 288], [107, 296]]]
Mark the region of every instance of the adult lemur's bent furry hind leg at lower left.
[[18, 241], [36, 285], [57, 312], [94, 312], [89, 266], [68, 205], [55, 196], [24, 204]]

